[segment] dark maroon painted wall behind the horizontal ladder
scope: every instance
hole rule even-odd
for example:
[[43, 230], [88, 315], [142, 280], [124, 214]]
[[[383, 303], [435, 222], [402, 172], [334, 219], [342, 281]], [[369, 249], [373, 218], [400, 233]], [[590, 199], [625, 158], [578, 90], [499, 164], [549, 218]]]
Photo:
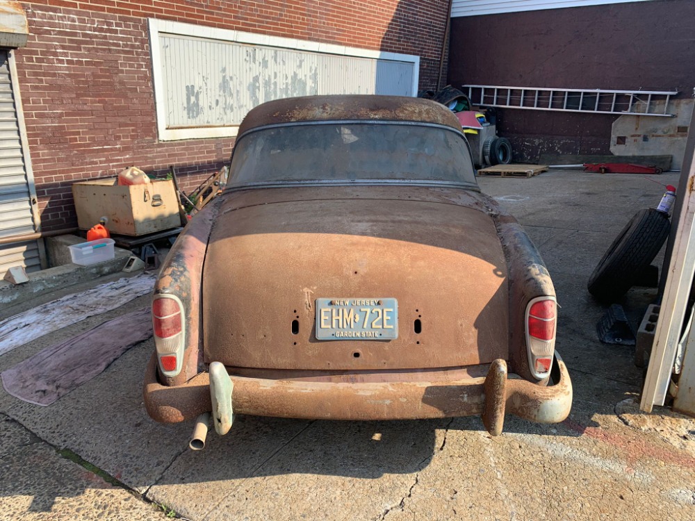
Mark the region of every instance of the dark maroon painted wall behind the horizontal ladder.
[[[695, 3], [652, 0], [452, 19], [452, 85], [680, 90], [695, 85]], [[658, 20], [659, 22], [655, 22]], [[616, 115], [498, 110], [514, 160], [610, 154]], [[653, 118], [658, 119], [658, 118]], [[660, 123], [655, 122], [655, 126]]]

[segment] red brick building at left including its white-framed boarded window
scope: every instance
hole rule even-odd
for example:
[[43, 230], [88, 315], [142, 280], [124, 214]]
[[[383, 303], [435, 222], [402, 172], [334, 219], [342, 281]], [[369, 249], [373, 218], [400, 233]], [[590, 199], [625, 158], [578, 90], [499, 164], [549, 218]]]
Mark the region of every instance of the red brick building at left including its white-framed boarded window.
[[130, 165], [154, 175], [175, 165], [184, 190], [195, 187], [229, 159], [240, 118], [261, 101], [434, 88], [448, 19], [447, 0], [3, 3], [26, 17], [26, 44], [0, 42], [0, 60], [10, 101], [21, 99], [26, 139], [13, 161], [33, 214], [17, 220], [15, 204], [0, 235], [75, 226], [72, 183]]

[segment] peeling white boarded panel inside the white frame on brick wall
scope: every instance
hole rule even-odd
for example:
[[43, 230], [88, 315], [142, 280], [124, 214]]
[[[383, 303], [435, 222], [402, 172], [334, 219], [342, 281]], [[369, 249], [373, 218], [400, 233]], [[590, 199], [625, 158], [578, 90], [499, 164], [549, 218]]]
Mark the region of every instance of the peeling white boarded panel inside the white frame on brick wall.
[[166, 128], [240, 124], [255, 106], [316, 94], [412, 95], [414, 63], [222, 42], [159, 38]]

